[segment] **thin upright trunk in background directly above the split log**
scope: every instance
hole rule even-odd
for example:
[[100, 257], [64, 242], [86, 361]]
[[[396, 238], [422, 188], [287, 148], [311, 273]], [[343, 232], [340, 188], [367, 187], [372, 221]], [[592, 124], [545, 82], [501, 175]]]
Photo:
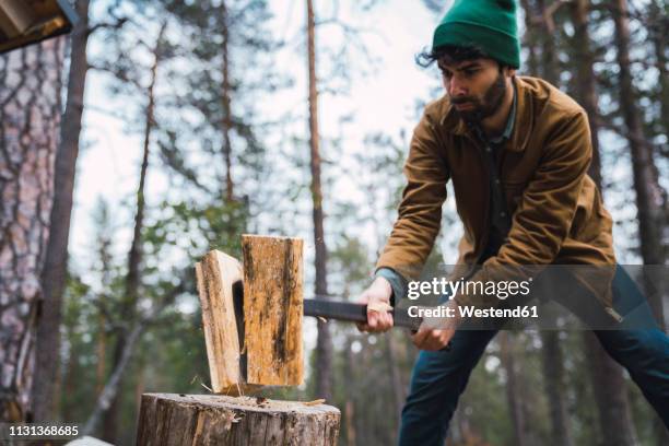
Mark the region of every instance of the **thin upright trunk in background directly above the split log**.
[[221, 48], [223, 55], [223, 84], [222, 84], [222, 102], [223, 102], [223, 157], [225, 161], [225, 200], [226, 202], [233, 201], [234, 184], [232, 178], [232, 143], [230, 133], [233, 128], [232, 118], [232, 106], [231, 106], [231, 91], [232, 85], [230, 81], [230, 35], [227, 30], [228, 14], [225, 1], [221, 2], [221, 12], [223, 21], [223, 47]]

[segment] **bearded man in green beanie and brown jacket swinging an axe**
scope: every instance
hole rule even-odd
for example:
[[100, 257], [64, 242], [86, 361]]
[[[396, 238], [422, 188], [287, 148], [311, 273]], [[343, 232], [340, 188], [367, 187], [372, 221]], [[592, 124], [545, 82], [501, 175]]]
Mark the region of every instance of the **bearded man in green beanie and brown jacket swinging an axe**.
[[[629, 328], [615, 309], [621, 298], [644, 297], [615, 267], [611, 218], [587, 175], [592, 154], [587, 115], [545, 81], [515, 74], [520, 64], [515, 2], [456, 0], [434, 32], [432, 50], [421, 58], [423, 66], [436, 61], [446, 95], [425, 107], [414, 130], [399, 216], [375, 280], [361, 296], [369, 310], [359, 328], [392, 326], [384, 308], [418, 278], [451, 180], [465, 226], [457, 265], [478, 265], [472, 279], [494, 279], [508, 266], [612, 267], [612, 281], [584, 283], [588, 298], [573, 301], [570, 309], [590, 306], [606, 315], [613, 329], [595, 333], [669, 426], [669, 339], [655, 322]], [[447, 305], [472, 303], [481, 304], [457, 293]], [[645, 303], [643, 310], [648, 314]], [[422, 351], [402, 411], [401, 445], [444, 444], [458, 398], [496, 332], [463, 330], [460, 324], [457, 317], [436, 328], [423, 324], [412, 336]]]

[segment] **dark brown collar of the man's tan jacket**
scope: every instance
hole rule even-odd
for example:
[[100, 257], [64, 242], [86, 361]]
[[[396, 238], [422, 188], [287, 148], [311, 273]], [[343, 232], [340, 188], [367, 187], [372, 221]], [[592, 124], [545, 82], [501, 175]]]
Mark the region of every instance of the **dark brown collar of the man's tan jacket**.
[[[516, 117], [514, 121], [513, 132], [509, 140], [506, 141], [504, 148], [512, 152], [521, 152], [527, 148], [531, 129], [533, 127], [533, 110], [532, 110], [532, 93], [521, 78], [514, 77], [514, 85], [516, 86]], [[476, 139], [469, 127], [458, 117], [456, 109], [448, 104], [442, 124], [450, 131], [458, 136]]]

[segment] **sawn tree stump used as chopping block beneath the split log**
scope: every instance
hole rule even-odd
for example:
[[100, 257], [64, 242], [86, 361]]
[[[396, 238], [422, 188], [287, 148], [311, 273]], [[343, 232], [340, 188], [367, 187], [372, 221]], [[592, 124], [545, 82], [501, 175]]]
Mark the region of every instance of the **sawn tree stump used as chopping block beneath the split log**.
[[339, 421], [337, 408], [318, 401], [144, 394], [137, 445], [333, 446]]

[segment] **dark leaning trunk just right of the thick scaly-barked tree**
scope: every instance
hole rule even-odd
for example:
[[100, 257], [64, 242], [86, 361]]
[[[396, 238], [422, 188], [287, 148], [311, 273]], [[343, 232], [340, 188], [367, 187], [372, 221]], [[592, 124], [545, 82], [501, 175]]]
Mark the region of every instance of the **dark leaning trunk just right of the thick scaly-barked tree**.
[[56, 154], [54, 206], [42, 274], [43, 304], [37, 327], [37, 365], [33, 387], [33, 398], [39, 401], [35, 406], [35, 421], [49, 421], [55, 416], [54, 384], [58, 367], [54, 367], [54, 364], [58, 364], [60, 351], [62, 294], [68, 269], [70, 216], [87, 71], [89, 0], [78, 0], [75, 8], [79, 23], [71, 37], [68, 96], [60, 127], [60, 146]]

